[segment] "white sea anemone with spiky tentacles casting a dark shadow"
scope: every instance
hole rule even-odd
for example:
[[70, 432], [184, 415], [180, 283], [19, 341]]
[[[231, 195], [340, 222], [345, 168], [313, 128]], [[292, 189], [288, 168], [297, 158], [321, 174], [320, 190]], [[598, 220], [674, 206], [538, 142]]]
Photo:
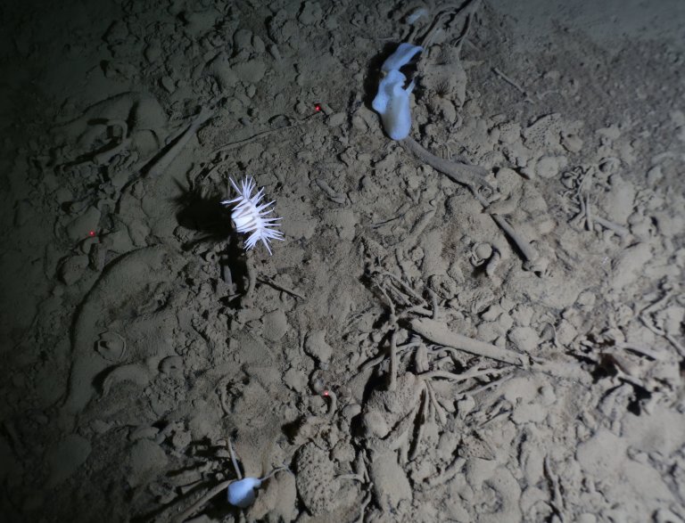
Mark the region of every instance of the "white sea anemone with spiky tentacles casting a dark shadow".
[[[283, 240], [283, 233], [276, 231], [273, 227], [278, 224], [274, 223], [281, 218], [266, 217], [273, 212], [273, 201], [262, 203], [259, 205], [262, 198], [264, 198], [264, 189], [260, 189], [257, 194], [252, 196], [252, 190], [255, 187], [252, 177], [245, 178], [240, 187], [235, 184], [233, 178], [230, 178], [233, 188], [238, 193], [238, 196], [233, 200], [224, 200], [221, 203], [230, 205], [235, 203], [235, 207], [231, 212], [231, 219], [235, 223], [235, 230], [238, 233], [250, 234], [247, 241], [245, 241], [245, 249], [252, 249], [258, 241], [264, 244], [267, 248], [268, 254], [271, 254], [271, 248], [268, 242], [271, 240]], [[268, 209], [268, 210], [267, 210]]]

